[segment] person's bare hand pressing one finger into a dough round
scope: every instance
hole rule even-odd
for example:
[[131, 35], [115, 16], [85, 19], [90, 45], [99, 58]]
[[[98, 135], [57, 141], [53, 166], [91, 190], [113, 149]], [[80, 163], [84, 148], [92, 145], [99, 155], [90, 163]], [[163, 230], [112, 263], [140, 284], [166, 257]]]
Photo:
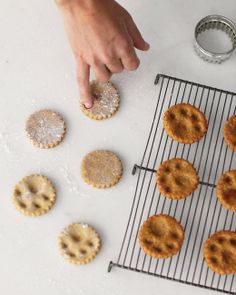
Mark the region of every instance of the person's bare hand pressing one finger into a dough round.
[[114, 0], [55, 0], [76, 60], [80, 101], [91, 108], [89, 79], [107, 82], [115, 73], [134, 71], [140, 61], [135, 49], [146, 51], [131, 15]]

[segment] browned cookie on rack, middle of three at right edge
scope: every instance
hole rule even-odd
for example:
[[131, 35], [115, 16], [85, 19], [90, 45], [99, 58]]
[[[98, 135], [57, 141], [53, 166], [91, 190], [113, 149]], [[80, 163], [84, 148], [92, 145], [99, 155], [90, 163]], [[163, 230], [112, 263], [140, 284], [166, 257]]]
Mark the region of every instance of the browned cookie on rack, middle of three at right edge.
[[236, 211], [236, 170], [221, 175], [216, 186], [216, 195], [226, 209]]

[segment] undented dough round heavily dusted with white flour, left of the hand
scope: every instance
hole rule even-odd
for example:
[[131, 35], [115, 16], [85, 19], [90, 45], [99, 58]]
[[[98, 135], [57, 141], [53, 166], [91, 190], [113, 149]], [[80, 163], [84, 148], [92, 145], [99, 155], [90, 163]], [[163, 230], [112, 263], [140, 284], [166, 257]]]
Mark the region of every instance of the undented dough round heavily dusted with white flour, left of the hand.
[[33, 113], [26, 122], [27, 136], [39, 148], [53, 148], [64, 138], [66, 125], [63, 117], [52, 110]]

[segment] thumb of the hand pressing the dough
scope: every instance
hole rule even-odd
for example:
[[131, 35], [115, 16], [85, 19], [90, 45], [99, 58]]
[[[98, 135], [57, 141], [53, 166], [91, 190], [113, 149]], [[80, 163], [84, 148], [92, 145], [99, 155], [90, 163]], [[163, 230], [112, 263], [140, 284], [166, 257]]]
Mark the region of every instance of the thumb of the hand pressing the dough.
[[126, 20], [126, 26], [128, 33], [133, 40], [134, 47], [142, 51], [148, 50], [150, 45], [143, 39], [139, 29], [131, 17]]

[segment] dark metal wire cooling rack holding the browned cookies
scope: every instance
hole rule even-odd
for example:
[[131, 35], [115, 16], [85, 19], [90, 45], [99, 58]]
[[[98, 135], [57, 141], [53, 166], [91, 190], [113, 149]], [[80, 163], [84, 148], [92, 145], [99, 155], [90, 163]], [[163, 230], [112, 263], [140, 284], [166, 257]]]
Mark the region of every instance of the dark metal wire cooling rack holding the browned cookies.
[[[215, 194], [220, 175], [235, 169], [236, 153], [224, 142], [224, 122], [235, 114], [236, 93], [200, 85], [167, 75], [156, 76], [157, 105], [145, 146], [143, 158], [135, 164], [137, 184], [131, 205], [128, 225], [117, 262], [113, 266], [162, 277], [185, 284], [236, 292], [236, 276], [221, 276], [212, 272], [203, 259], [203, 242], [222, 229], [236, 230], [236, 214], [224, 209]], [[200, 108], [208, 119], [206, 136], [198, 143], [180, 144], [168, 137], [162, 126], [165, 110], [171, 105], [186, 102]], [[192, 196], [184, 200], [163, 197], [156, 187], [156, 169], [170, 158], [189, 160], [198, 170], [200, 185]], [[154, 214], [174, 216], [185, 228], [185, 241], [178, 255], [169, 259], [147, 256], [137, 240], [140, 226]]]

